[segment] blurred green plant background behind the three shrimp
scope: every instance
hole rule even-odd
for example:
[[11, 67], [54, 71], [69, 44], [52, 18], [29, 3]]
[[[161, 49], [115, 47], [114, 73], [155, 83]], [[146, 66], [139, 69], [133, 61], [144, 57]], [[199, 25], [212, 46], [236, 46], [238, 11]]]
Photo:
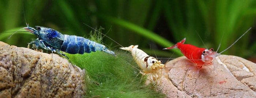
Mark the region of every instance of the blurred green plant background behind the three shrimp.
[[[25, 27], [25, 19], [32, 27], [45, 26], [86, 38], [92, 28], [102, 26], [102, 33], [123, 46], [139, 45], [152, 56], [167, 58], [173, 51], [173, 58], [182, 56], [177, 49], [162, 49], [185, 37], [186, 44], [205, 48], [204, 42], [215, 50], [222, 41], [221, 52], [252, 27], [222, 54], [256, 57], [254, 0], [1, 0], [0, 14], [0, 32]], [[6, 42], [10, 34], [0, 33], [0, 41]], [[8, 44], [27, 47], [32, 38], [36, 36], [17, 33]], [[112, 49], [121, 47], [114, 41], [103, 38]]]

